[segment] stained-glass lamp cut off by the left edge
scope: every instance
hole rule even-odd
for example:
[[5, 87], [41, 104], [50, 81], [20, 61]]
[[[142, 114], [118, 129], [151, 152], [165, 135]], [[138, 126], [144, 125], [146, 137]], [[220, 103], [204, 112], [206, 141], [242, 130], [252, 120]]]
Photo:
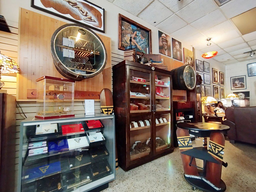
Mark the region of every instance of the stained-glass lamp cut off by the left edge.
[[10, 57], [1, 54], [0, 52], [0, 89], [4, 86], [4, 82], [1, 81], [1, 73], [18, 73], [18, 64]]

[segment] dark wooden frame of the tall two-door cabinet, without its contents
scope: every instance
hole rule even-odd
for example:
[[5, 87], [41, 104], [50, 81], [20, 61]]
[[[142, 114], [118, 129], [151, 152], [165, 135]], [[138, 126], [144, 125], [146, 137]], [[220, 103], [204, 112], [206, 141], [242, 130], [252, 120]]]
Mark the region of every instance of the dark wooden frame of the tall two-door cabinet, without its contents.
[[[150, 82], [137, 82], [130, 80], [130, 70], [141, 72], [141, 73], [148, 73], [150, 74]], [[143, 74], [142, 74], [143, 75]], [[165, 78], [169, 78], [169, 86], [164, 85], [158, 85], [158, 87], [167, 87], [170, 89], [170, 92], [168, 93], [170, 101], [170, 106], [168, 110], [156, 110], [156, 100], [160, 99], [160, 96], [156, 95], [156, 84], [155, 84], [155, 75], [162, 76]], [[134, 97], [130, 96], [130, 85], [131, 84], [138, 84], [138, 85], [150, 85], [150, 96], [146, 97]], [[130, 101], [131, 99], [148, 99], [151, 105], [151, 108], [149, 110], [141, 110], [141, 111], [130, 111]], [[161, 100], [166, 100], [165, 98], [161, 98]], [[115, 114], [115, 121], [116, 121], [116, 141], [117, 141], [117, 151], [118, 151], [118, 162], [119, 166], [127, 171], [130, 169], [133, 169], [135, 167], [138, 167], [140, 165], [143, 165], [147, 162], [150, 162], [154, 159], [157, 159], [159, 157], [162, 157], [166, 154], [169, 154], [173, 152], [173, 107], [172, 107], [172, 72], [155, 68], [152, 70], [151, 66], [143, 65], [140, 63], [136, 63], [133, 61], [124, 60], [117, 65], [113, 67], [113, 101], [114, 101], [114, 114]], [[167, 106], [166, 106], [167, 107]], [[161, 117], [162, 115], [169, 115], [168, 122], [156, 124], [155, 119], [157, 117]], [[140, 119], [142, 118], [142, 119]], [[169, 131], [166, 135], [166, 138], [168, 137], [169, 143], [168, 146], [156, 146], [156, 140], [153, 139], [153, 142], [151, 142], [151, 150], [150, 152], [142, 152], [139, 153], [137, 157], [132, 158], [131, 157], [131, 132], [135, 131], [135, 129], [130, 129], [130, 121], [131, 119], [137, 120], [145, 120], [150, 119], [151, 125], [145, 126], [143, 129], [136, 129], [136, 131], [145, 130], [148, 128], [151, 128], [150, 131], [147, 131], [147, 133], [140, 133], [139, 137], [142, 138], [142, 134], [150, 135], [151, 138], [156, 138], [157, 133], [156, 132], [162, 132], [162, 130], [159, 129], [165, 129], [161, 126], [167, 126], [169, 124]], [[160, 127], [158, 125], [161, 125]], [[145, 129], [144, 129], [145, 128]], [[138, 133], [139, 133], [138, 132]], [[138, 138], [133, 136], [134, 139]], [[148, 137], [147, 137], [148, 138]], [[152, 140], [151, 140], [152, 141]], [[141, 141], [144, 142], [144, 141]], [[143, 153], [149, 153], [149, 154], [143, 154]], [[140, 155], [141, 154], [141, 155]], [[132, 155], [136, 156], [136, 155]]]

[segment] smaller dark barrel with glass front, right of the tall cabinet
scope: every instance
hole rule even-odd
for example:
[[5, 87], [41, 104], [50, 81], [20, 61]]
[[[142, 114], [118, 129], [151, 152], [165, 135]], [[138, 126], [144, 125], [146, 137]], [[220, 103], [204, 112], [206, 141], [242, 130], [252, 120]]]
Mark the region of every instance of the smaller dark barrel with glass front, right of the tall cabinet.
[[190, 65], [184, 65], [172, 70], [173, 89], [193, 90], [196, 86], [196, 73]]

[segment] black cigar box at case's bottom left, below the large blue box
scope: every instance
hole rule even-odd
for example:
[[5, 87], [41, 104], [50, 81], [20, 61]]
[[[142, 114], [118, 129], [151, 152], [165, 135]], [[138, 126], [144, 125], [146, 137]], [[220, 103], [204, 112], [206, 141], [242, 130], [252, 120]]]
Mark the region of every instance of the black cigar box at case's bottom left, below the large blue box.
[[55, 174], [37, 181], [37, 192], [59, 192], [62, 191], [61, 174]]

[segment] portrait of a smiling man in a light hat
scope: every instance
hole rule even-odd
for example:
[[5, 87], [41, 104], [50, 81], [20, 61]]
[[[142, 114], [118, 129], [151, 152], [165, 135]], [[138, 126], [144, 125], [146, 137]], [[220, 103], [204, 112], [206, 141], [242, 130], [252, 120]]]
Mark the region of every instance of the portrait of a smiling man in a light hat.
[[171, 57], [171, 37], [165, 33], [158, 31], [158, 48], [159, 53]]

